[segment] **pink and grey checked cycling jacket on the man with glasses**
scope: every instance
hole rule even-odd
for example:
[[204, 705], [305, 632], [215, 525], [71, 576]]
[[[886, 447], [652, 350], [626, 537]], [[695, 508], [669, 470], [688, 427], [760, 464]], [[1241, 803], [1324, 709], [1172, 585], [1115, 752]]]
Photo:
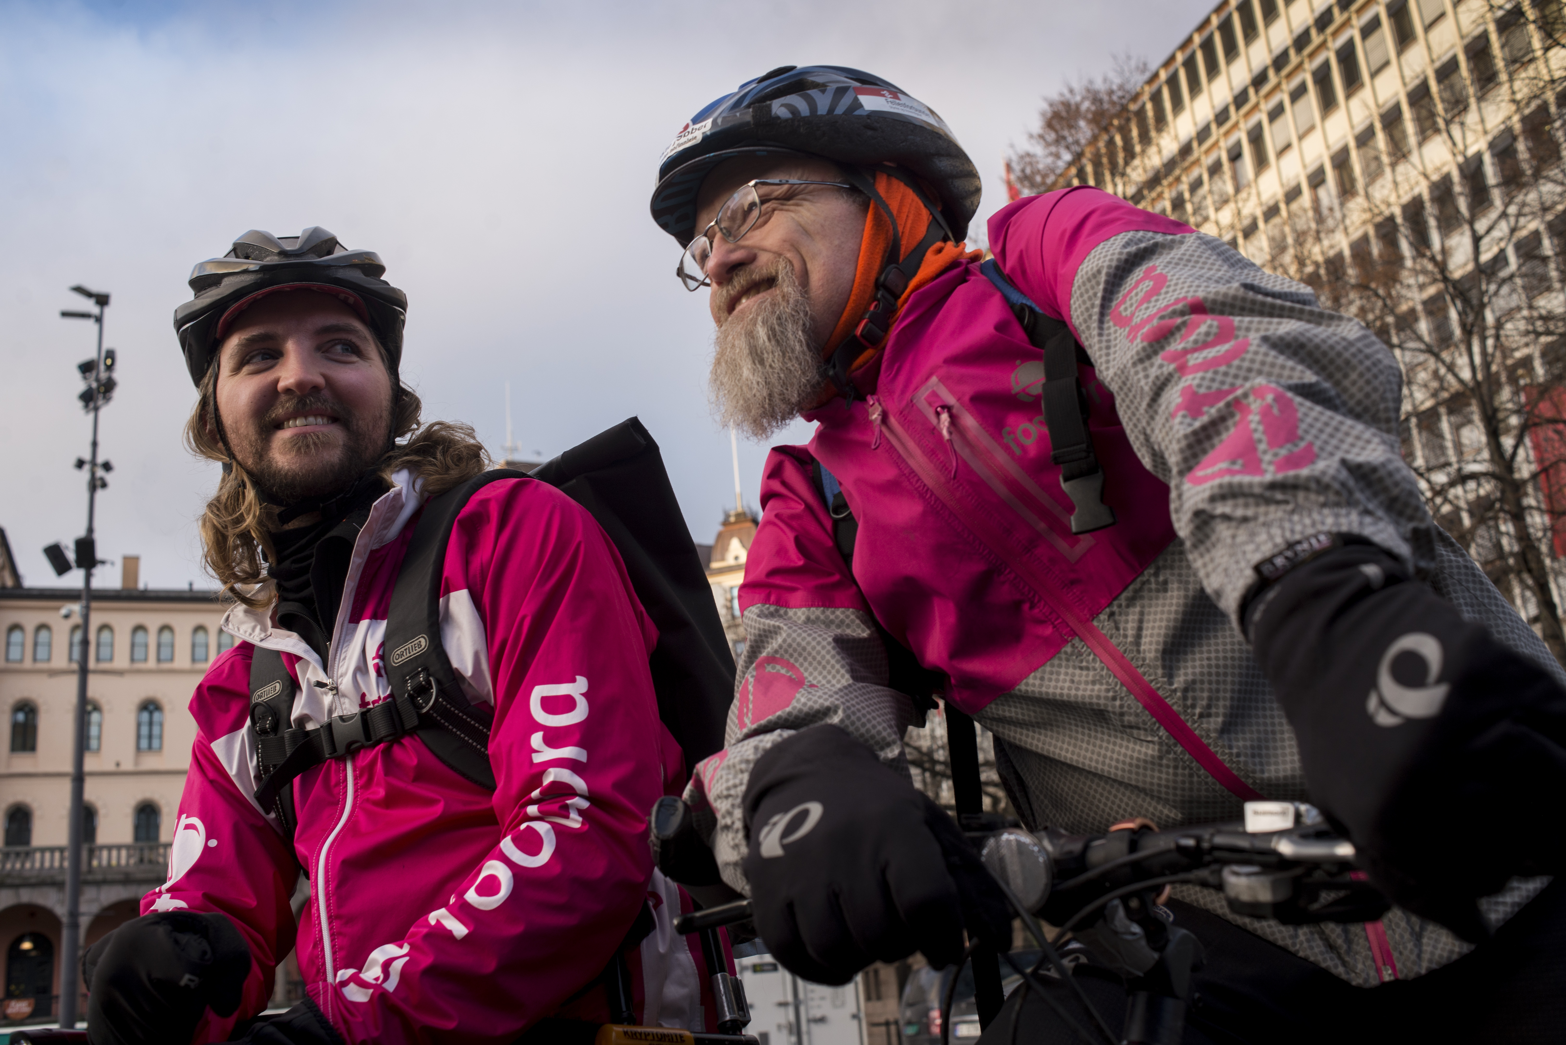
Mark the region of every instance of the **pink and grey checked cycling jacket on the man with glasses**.
[[[1254, 563], [1323, 530], [1402, 555], [1566, 681], [1425, 510], [1398, 452], [1398, 366], [1366, 327], [1221, 241], [1092, 188], [1009, 205], [990, 244], [1092, 358], [1079, 369], [1118, 522], [1071, 533], [1040, 352], [979, 266], [915, 293], [868, 399], [806, 415], [811, 443], [767, 460], [728, 746], [686, 792], [730, 884], [745, 889], [741, 799], [774, 743], [835, 723], [905, 765], [911, 707], [885, 685], [875, 623], [944, 671], [949, 699], [1002, 742], [1024, 823], [1084, 834], [1306, 798], [1294, 735], [1234, 619]], [[858, 521], [852, 576], [814, 461]], [[1494, 915], [1538, 887], [1516, 884]], [[1231, 915], [1209, 890], [1182, 898], [1361, 986], [1466, 950], [1400, 910], [1369, 929], [1279, 926]]]

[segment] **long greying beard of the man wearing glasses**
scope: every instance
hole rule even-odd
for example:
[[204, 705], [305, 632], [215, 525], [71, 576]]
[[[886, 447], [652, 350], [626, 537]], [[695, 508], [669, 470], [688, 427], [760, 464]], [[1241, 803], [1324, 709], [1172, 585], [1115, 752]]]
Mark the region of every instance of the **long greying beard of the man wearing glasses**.
[[756, 283], [772, 282], [766, 299], [728, 316], [713, 336], [708, 394], [719, 422], [753, 440], [786, 427], [821, 391], [821, 352], [811, 339], [810, 299], [794, 266], [778, 258], [766, 269], [744, 269], [717, 296], [719, 314]]

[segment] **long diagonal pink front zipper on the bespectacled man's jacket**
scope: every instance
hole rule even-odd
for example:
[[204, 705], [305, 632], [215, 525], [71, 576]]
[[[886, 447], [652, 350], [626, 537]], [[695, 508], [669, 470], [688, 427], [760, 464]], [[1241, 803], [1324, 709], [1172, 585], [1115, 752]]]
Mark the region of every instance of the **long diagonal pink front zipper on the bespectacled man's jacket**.
[[[866, 399], [869, 408], [869, 419], [875, 426], [877, 443], [880, 435], [885, 433], [886, 441], [891, 447], [902, 457], [904, 461], [915, 471], [921, 482], [930, 488], [930, 491], [941, 499], [952, 515], [955, 515], [974, 537], [980, 540], [990, 551], [1001, 555], [1002, 562], [1010, 566], [1027, 585], [1043, 599], [1048, 610], [1055, 616], [1057, 623], [1066, 630], [1066, 634], [1076, 635], [1082, 643], [1093, 651], [1093, 654], [1104, 663], [1110, 673], [1120, 679], [1120, 684], [1131, 690], [1131, 695], [1137, 698], [1137, 702], [1168, 732], [1181, 748], [1185, 749], [1192, 759], [1207, 771], [1212, 779], [1221, 784], [1229, 793], [1243, 798], [1256, 799], [1262, 795], [1253, 788], [1250, 784], [1242, 781], [1239, 774], [1231, 770], [1223, 759], [1220, 759], [1207, 743], [1196, 735], [1196, 731], [1179, 716], [1168, 701], [1165, 701], [1157, 690], [1153, 688], [1135, 665], [1121, 652], [1109, 637], [1104, 635], [1092, 621], [1088, 621], [1082, 613], [1073, 607], [1066, 598], [1055, 590], [1051, 580], [1040, 574], [1023, 555], [1012, 554], [1012, 541], [1005, 533], [996, 527], [990, 519], [983, 518], [982, 513], [974, 512], [957, 491], [946, 482], [940, 469], [933, 468], [930, 460], [913, 444], [908, 433], [902, 429], [897, 418], [885, 408], [879, 396], [869, 396]], [[947, 430], [949, 432], [949, 430]], [[949, 440], [949, 435], [947, 435]], [[955, 451], [954, 451], [955, 454]]]

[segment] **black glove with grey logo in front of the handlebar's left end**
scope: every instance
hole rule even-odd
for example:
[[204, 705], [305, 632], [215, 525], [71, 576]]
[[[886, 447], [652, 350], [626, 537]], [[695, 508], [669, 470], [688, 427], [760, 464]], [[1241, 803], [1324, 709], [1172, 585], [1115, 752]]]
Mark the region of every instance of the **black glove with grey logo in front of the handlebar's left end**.
[[844, 984], [916, 950], [949, 965], [965, 926], [1012, 942], [1005, 898], [957, 821], [836, 726], [756, 760], [745, 831], [756, 931], [805, 979]]

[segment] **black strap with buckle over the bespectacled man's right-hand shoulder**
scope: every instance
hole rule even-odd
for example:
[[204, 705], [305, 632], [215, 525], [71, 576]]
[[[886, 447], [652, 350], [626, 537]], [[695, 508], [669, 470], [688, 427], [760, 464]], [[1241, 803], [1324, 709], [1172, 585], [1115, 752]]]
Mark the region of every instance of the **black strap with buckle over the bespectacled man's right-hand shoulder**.
[[1045, 354], [1045, 429], [1049, 432], [1049, 460], [1060, 465], [1060, 488], [1071, 497], [1073, 533], [1092, 533], [1115, 524], [1115, 510], [1104, 504], [1104, 469], [1093, 454], [1087, 430], [1087, 393], [1077, 377], [1077, 363], [1090, 361], [1071, 335], [1071, 327], [1046, 316], [1023, 291], [1016, 289], [1001, 266], [990, 258], [980, 271], [1001, 291], [1029, 343]]

